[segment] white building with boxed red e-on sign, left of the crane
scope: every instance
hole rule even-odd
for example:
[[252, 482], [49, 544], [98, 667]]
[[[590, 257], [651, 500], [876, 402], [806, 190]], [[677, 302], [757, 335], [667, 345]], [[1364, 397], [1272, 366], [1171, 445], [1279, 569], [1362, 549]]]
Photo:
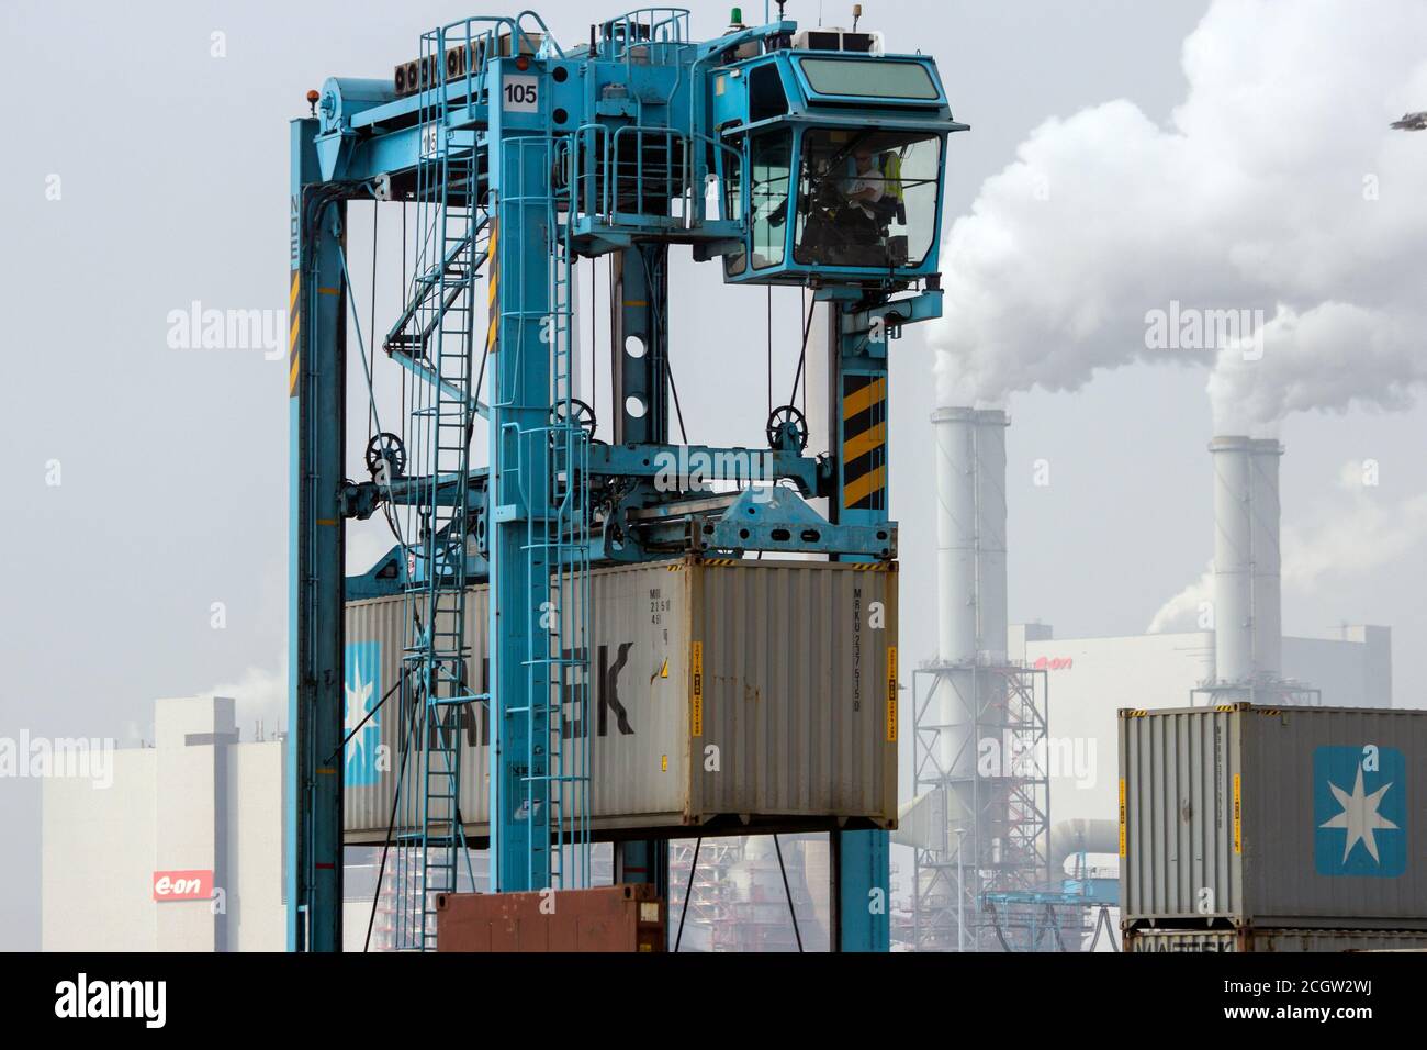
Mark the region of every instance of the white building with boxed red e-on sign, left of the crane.
[[[225, 697], [158, 700], [153, 747], [43, 789], [46, 951], [287, 947], [281, 740], [241, 741]], [[367, 906], [347, 904], [348, 950]]]

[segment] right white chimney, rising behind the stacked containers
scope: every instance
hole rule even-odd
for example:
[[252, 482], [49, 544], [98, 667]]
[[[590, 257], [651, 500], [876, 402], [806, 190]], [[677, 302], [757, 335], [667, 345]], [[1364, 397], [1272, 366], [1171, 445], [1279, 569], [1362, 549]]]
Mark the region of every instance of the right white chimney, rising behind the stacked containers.
[[1283, 669], [1276, 440], [1216, 437], [1214, 679], [1277, 680]]

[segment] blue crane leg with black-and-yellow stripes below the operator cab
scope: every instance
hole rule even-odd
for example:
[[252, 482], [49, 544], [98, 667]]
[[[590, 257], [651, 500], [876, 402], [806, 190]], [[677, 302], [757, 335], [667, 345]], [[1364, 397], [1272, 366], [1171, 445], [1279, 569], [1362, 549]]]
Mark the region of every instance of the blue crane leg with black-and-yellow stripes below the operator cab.
[[[829, 510], [832, 520], [842, 524], [880, 524], [888, 521], [886, 341], [880, 329], [878, 337], [852, 330], [852, 307], [835, 301], [828, 309], [836, 347], [832, 407], [838, 449], [838, 491]], [[832, 836], [838, 950], [888, 951], [892, 943], [890, 837], [886, 831], [833, 831]]]

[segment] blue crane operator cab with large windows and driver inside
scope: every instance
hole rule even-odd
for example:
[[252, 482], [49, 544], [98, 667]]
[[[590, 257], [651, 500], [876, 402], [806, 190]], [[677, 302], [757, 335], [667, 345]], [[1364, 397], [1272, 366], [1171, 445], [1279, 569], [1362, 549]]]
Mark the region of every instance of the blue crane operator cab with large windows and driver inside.
[[711, 74], [714, 124], [732, 147], [719, 150], [723, 209], [746, 214], [745, 239], [723, 250], [729, 283], [908, 284], [936, 271], [945, 141], [968, 126], [929, 57], [798, 47], [822, 36]]

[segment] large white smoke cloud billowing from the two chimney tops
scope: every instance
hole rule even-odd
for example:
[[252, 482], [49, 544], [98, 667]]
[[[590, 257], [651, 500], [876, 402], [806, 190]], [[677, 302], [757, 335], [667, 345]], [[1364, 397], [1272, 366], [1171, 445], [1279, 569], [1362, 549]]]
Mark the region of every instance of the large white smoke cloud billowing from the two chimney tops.
[[1035, 129], [946, 237], [942, 403], [1167, 360], [1213, 366], [1219, 433], [1408, 406], [1427, 133], [1388, 123], [1427, 106], [1424, 39], [1416, 0], [1220, 0], [1169, 126], [1117, 100]]

